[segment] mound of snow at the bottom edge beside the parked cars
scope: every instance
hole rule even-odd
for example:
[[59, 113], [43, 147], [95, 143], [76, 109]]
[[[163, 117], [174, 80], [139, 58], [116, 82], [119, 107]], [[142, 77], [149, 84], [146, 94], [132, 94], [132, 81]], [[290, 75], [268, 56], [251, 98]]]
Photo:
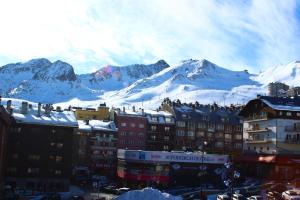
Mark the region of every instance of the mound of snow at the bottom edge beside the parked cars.
[[116, 198], [116, 200], [182, 200], [181, 197], [172, 196], [168, 193], [153, 188], [144, 188], [142, 190], [132, 190]]

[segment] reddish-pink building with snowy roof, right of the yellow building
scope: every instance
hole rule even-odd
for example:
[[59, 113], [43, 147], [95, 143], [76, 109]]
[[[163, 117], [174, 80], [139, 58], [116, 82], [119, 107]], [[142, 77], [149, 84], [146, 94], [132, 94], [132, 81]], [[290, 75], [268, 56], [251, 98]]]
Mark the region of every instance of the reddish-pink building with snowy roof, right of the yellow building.
[[116, 110], [114, 120], [118, 127], [118, 149], [144, 150], [146, 148], [147, 117], [143, 109]]

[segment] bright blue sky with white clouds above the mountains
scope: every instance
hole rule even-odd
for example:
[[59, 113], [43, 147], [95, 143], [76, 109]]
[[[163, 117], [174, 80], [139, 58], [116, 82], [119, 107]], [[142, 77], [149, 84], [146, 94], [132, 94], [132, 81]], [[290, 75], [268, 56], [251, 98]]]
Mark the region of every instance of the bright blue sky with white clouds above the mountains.
[[205, 58], [259, 72], [300, 59], [299, 12], [293, 0], [0, 1], [0, 65], [45, 57], [89, 73]]

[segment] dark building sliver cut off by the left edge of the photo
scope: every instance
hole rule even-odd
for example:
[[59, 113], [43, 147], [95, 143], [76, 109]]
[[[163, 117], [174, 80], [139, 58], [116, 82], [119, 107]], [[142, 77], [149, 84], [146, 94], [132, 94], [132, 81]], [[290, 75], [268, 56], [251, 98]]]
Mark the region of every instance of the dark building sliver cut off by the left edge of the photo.
[[[1, 97], [0, 97], [1, 103]], [[6, 168], [6, 152], [8, 130], [11, 124], [10, 116], [6, 109], [0, 105], [0, 199], [4, 189], [4, 173]]]

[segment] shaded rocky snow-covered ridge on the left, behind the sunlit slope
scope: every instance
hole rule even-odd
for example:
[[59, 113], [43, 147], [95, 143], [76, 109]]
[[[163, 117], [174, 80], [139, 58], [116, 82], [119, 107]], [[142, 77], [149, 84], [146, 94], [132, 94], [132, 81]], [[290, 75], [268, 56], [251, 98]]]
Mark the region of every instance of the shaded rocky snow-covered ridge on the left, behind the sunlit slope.
[[160, 60], [150, 65], [106, 66], [92, 74], [76, 75], [68, 63], [33, 59], [0, 68], [0, 94], [42, 102], [97, 100], [104, 91], [122, 89], [167, 67]]

